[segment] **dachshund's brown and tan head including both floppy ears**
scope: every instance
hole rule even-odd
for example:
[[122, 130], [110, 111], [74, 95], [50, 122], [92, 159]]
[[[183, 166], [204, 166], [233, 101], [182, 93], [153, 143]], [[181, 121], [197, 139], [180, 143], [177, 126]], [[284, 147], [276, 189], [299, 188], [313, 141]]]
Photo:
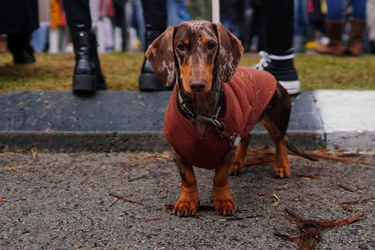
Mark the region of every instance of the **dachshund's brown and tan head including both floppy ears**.
[[222, 24], [186, 21], [167, 28], [148, 47], [146, 57], [166, 86], [178, 77], [187, 93], [206, 93], [216, 76], [229, 82], [243, 51], [241, 42]]

